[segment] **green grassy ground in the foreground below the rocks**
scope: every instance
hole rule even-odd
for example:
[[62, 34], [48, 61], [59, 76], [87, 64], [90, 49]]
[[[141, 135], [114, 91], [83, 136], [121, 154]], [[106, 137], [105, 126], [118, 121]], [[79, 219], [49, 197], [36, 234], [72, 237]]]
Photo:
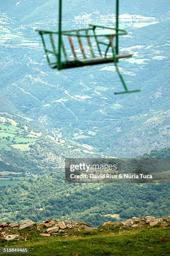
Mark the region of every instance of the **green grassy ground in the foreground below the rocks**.
[[[104, 227], [102, 227], [104, 228]], [[145, 256], [169, 255], [170, 228], [145, 228], [142, 230], [66, 231], [68, 236], [58, 233], [49, 238], [39, 236], [36, 228], [20, 230], [27, 241], [0, 241], [0, 246], [28, 247], [29, 256]], [[14, 231], [13, 231], [14, 232]], [[129, 233], [128, 233], [129, 232]], [[3, 255], [3, 254], [2, 254]], [[4, 254], [7, 255], [7, 254]], [[10, 254], [9, 254], [10, 255]]]

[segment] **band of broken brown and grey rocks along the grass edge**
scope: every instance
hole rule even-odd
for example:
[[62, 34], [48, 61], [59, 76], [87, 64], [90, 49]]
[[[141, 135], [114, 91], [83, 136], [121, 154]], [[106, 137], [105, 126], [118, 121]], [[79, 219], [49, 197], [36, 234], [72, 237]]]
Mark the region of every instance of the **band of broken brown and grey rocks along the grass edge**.
[[[27, 237], [35, 230], [37, 236], [69, 236], [69, 234], [76, 232], [101, 232], [108, 229], [116, 230], [129, 230], [140, 228], [157, 228], [157, 227], [170, 227], [170, 216], [164, 218], [155, 218], [154, 216], [146, 216], [145, 218], [133, 217], [129, 220], [122, 222], [108, 221], [103, 223], [102, 228], [90, 227], [87, 223], [77, 221], [58, 221], [50, 220], [49, 218], [42, 223], [35, 223], [32, 220], [23, 220], [19, 225], [18, 223], [0, 223], [0, 239], [6, 241], [13, 240], [27, 240]], [[26, 232], [22, 232], [23, 229], [28, 228]], [[94, 232], [94, 234], [95, 234]], [[21, 236], [22, 235], [22, 236]]]

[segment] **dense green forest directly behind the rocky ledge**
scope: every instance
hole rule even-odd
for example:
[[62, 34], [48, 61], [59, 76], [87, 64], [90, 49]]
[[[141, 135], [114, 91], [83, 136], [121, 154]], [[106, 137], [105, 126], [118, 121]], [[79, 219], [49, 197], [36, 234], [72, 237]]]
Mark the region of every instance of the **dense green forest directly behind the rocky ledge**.
[[[144, 156], [169, 158], [170, 148]], [[62, 170], [51, 169], [50, 175], [0, 188], [0, 212], [4, 212], [1, 220], [71, 218], [100, 225], [107, 220], [124, 220], [134, 215], [162, 217], [169, 215], [169, 188], [169, 184], [67, 184]]]

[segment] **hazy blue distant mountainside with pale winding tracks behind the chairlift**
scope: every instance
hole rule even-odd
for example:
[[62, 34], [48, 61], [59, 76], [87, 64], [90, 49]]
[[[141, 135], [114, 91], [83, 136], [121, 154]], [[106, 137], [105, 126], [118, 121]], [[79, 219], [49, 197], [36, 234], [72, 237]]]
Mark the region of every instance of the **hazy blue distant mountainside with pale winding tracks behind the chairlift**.
[[[3, 4], [0, 93], [13, 112], [41, 121], [48, 131], [63, 128], [64, 137], [112, 156], [137, 156], [169, 146], [169, 2], [132, 2], [120, 5], [120, 27], [131, 32], [120, 38], [120, 53], [133, 51], [134, 58], [119, 61], [119, 66], [128, 87], [142, 91], [122, 96], [114, 95], [122, 85], [113, 64], [60, 73], [48, 68], [34, 30], [56, 28], [55, 1]], [[114, 3], [107, 0], [97, 5], [65, 1], [63, 8], [63, 28], [115, 25]]]

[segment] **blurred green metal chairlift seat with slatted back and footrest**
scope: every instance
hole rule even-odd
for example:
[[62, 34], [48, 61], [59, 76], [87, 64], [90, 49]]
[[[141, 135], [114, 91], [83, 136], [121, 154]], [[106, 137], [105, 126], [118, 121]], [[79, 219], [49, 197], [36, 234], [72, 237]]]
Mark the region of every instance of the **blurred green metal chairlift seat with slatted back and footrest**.
[[[89, 28], [62, 31], [62, 0], [59, 0], [58, 31], [37, 29], [42, 39], [43, 48], [49, 67], [52, 69], [61, 70], [114, 62], [117, 73], [124, 86], [124, 91], [115, 92], [114, 94], [140, 92], [140, 90], [128, 90], [117, 66], [119, 59], [132, 57], [133, 54], [119, 54], [119, 36], [127, 35], [127, 31], [124, 29], [119, 29], [119, 0], [116, 0], [116, 2], [116, 28], [90, 24]], [[46, 42], [47, 38], [49, 40], [50, 47]], [[69, 53], [71, 52], [71, 56], [68, 54], [68, 50], [66, 50], [64, 38], [67, 38], [69, 44]], [[80, 54], [77, 54], [77, 50], [75, 50], [77, 48], [75, 47], [75, 40], [78, 43], [81, 56]], [[85, 46], [83, 46], [84, 41]], [[53, 56], [53, 61], [51, 61], [51, 56]]]

